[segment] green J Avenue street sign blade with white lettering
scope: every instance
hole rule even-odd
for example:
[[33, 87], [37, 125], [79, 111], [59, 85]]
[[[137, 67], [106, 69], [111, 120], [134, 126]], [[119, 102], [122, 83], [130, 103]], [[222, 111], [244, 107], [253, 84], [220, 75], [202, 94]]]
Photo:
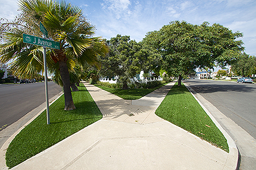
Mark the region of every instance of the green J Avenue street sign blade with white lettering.
[[45, 46], [48, 48], [60, 49], [60, 42], [43, 39], [41, 37], [35, 37], [23, 33], [23, 42], [28, 44]]

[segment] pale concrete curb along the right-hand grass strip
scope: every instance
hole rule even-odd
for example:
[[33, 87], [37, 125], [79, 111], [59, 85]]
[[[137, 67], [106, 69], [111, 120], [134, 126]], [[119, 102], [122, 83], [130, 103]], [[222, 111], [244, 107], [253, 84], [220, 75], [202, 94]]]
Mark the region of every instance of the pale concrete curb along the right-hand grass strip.
[[[183, 82], [184, 83], [184, 82]], [[191, 92], [192, 96], [196, 99], [196, 101], [201, 105], [201, 107], [204, 109], [204, 111], [208, 114], [208, 116], [210, 117], [210, 119], [213, 121], [213, 123], [217, 126], [218, 129], [220, 129], [221, 133], [224, 135], [224, 137], [226, 138], [228, 145], [229, 145], [229, 156], [226, 159], [226, 164], [225, 167], [234, 167], [235, 169], [237, 169], [238, 167], [238, 148], [236, 146], [236, 143], [234, 143], [233, 139], [230, 137], [230, 135], [222, 128], [222, 126], [218, 123], [218, 121], [212, 116], [212, 114], [210, 114], [210, 112], [208, 111], [207, 108], [205, 108], [205, 106], [201, 103], [201, 101], [194, 95], [196, 94], [197, 96], [200, 97], [200, 99], [202, 100], [202, 102], [208, 102], [207, 100], [204, 99], [203, 96], [201, 96], [200, 94], [197, 94], [195, 90], [193, 90], [193, 88], [189, 87], [187, 84], [184, 83], [184, 85], [188, 88], [189, 92]], [[212, 105], [211, 103], [209, 103], [210, 105]], [[212, 107], [214, 107], [212, 105]], [[216, 108], [216, 107], [214, 107]], [[217, 108], [216, 108], [217, 109]], [[220, 111], [219, 111], [220, 112]], [[220, 112], [221, 113], [221, 112]], [[223, 114], [223, 113], [221, 113]]]

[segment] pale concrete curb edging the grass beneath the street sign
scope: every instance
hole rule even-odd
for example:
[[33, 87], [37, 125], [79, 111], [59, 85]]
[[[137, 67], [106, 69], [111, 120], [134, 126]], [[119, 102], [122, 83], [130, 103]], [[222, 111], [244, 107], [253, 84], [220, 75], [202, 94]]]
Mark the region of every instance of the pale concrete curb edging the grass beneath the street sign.
[[[49, 99], [49, 101], [51, 101], [51, 103], [49, 103], [49, 106], [52, 105], [57, 99], [59, 99], [60, 96], [62, 96], [64, 93], [61, 91], [59, 92], [59, 94], [53, 96], [51, 99]], [[34, 110], [32, 110], [31, 112], [28, 112], [27, 114], [30, 114], [32, 112], [35, 112], [37, 109], [40, 109], [42, 107], [42, 105], [46, 105], [46, 102], [44, 102], [43, 104], [39, 105], [39, 107], [35, 108]], [[38, 112], [34, 117], [32, 117], [29, 121], [26, 122], [26, 124], [24, 124], [22, 127], [20, 127], [18, 130], [15, 131], [14, 134], [12, 134], [5, 143], [3, 143], [3, 146], [0, 149], [0, 165], [3, 166], [3, 164], [5, 164], [5, 154], [6, 154], [6, 150], [9, 147], [9, 144], [11, 143], [11, 141], [13, 141], [13, 139], [15, 138], [15, 136], [23, 129], [25, 128], [28, 124], [30, 124], [30, 122], [32, 122], [36, 117], [38, 117], [44, 110], [46, 110], [46, 106], [40, 111]], [[26, 115], [27, 115], [26, 114]], [[26, 116], [25, 115], [25, 116]], [[22, 118], [20, 118], [21, 120]], [[19, 120], [18, 120], [19, 121]], [[17, 122], [18, 122], [17, 121]], [[11, 126], [9, 126], [11, 127]], [[9, 128], [8, 127], [8, 128]], [[8, 167], [6, 166], [6, 164], [4, 165], [5, 167], [0, 167], [0, 170], [6, 170], [8, 169]]]

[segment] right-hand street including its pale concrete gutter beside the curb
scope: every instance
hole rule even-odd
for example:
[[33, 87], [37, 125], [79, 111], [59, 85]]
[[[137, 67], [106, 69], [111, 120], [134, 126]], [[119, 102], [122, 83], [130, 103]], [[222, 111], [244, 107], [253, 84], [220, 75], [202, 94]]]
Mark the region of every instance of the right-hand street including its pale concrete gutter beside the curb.
[[215, 117], [238, 147], [239, 169], [256, 169], [256, 84], [193, 79], [184, 82], [229, 120]]

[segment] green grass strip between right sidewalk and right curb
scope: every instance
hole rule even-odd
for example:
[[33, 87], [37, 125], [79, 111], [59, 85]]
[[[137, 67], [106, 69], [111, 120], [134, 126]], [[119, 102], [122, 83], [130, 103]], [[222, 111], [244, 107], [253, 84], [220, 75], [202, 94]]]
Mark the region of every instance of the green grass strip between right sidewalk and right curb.
[[224, 135], [184, 85], [176, 83], [155, 114], [229, 152]]

